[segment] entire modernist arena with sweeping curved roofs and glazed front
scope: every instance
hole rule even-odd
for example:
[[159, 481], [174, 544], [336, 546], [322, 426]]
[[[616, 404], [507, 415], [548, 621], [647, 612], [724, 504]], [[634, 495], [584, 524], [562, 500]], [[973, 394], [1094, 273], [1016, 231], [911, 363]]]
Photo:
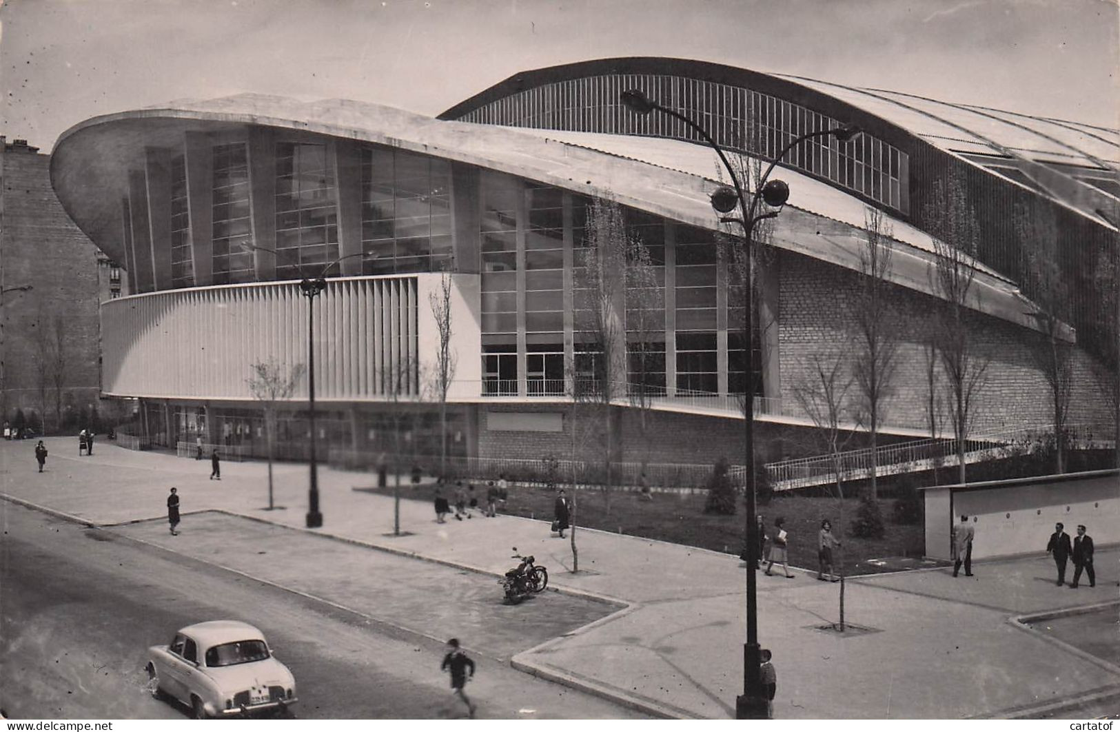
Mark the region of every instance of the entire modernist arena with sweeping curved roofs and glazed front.
[[[757, 320], [768, 326], [752, 359], [756, 441], [769, 459], [812, 451], [797, 439], [812, 422], [794, 394], [814, 354], [852, 340], [868, 208], [883, 213], [894, 242], [888, 297], [902, 338], [881, 430], [887, 440], [928, 434], [936, 191], [950, 180], [963, 187], [978, 232], [964, 327], [989, 366], [972, 431], [1053, 423], [1032, 356], [1044, 336], [1023, 284], [1023, 220], [1053, 223], [1071, 293], [1060, 329], [1073, 346], [1068, 422], [1111, 429], [1103, 394], [1116, 334], [1100, 274], [1117, 241], [1116, 130], [666, 58], [521, 73], [435, 119], [245, 94], [75, 125], [55, 147], [53, 185], [77, 225], [124, 264], [133, 292], [101, 306], [104, 394], [139, 398], [144, 429], [169, 447], [202, 438], [260, 452], [251, 366], [307, 360], [299, 281], [342, 257], [314, 308], [320, 437], [332, 450], [384, 450], [394, 410], [408, 410], [410, 450], [438, 454], [429, 293], [449, 272], [451, 453], [566, 457], [566, 365], [578, 372], [587, 351], [575, 270], [588, 209], [603, 198], [647, 248], [664, 303], [645, 336], [657, 366], [641, 376], [655, 393], [652, 429], [641, 441], [626, 437], [638, 416], [623, 390], [618, 457], [741, 462], [747, 359], [720, 244], [726, 225], [709, 200], [726, 176], [691, 128], [626, 109], [627, 90], [766, 161], [806, 132], [861, 130], [795, 147], [775, 175], [791, 193], [771, 222], [774, 254], [758, 266]], [[386, 374], [400, 373], [394, 388]], [[637, 378], [625, 362], [610, 377], [631, 390]], [[306, 439], [306, 400], [305, 379], [281, 416], [288, 454]], [[934, 402], [946, 409], [943, 396]]]

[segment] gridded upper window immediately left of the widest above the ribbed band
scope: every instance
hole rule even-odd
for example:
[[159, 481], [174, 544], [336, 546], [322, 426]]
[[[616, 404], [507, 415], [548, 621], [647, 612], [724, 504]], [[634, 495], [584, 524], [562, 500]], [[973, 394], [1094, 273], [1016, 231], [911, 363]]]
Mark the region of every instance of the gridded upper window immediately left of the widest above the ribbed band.
[[277, 279], [317, 274], [338, 257], [335, 177], [326, 144], [277, 143], [276, 201]]

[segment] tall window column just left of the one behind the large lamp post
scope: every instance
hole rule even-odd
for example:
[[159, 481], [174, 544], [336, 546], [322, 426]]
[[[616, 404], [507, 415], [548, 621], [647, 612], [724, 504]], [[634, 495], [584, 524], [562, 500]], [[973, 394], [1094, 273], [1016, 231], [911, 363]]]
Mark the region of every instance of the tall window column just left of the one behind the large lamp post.
[[716, 243], [701, 228], [676, 231], [676, 388], [716, 393]]

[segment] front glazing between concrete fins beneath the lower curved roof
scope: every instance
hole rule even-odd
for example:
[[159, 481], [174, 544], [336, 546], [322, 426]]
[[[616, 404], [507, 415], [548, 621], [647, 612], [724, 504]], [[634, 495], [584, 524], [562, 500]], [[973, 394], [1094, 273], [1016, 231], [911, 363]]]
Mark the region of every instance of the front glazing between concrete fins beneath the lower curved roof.
[[[617, 337], [625, 355], [608, 376], [604, 348], [591, 332], [591, 291], [581, 275], [590, 251], [591, 198], [478, 170], [477, 188], [465, 186], [460, 201], [477, 206], [467, 217], [477, 222], [477, 259], [455, 262], [448, 161], [372, 146], [360, 148], [356, 160], [335, 161], [325, 139], [281, 140], [273, 150], [274, 161], [253, 169], [274, 175], [274, 245], [258, 242], [253, 228], [248, 144], [211, 148], [215, 284], [256, 281], [258, 257], [251, 248], [256, 245], [277, 250], [277, 280], [298, 279], [309, 273], [307, 268], [315, 272], [337, 259], [343, 194], [334, 171], [336, 165], [356, 163], [361, 172], [352, 185], [361, 188], [345, 195], [361, 200], [363, 274], [445, 266], [479, 273], [483, 394], [563, 396], [573, 384], [587, 392], [608, 377], [619, 396], [623, 383], [631, 395], [645, 396], [719, 393], [725, 384], [731, 393], [743, 388], [745, 359], [736, 351], [741, 338], [735, 332], [743, 310], [732, 292], [734, 268], [719, 256], [715, 232], [623, 207], [626, 261], [642, 266], [617, 266], [625, 271], [610, 307], [618, 308], [624, 332]], [[186, 167], [177, 151], [169, 195], [172, 283], [193, 287], [197, 278]], [[127, 215], [128, 199], [122, 205]], [[469, 238], [463, 248], [470, 251]], [[727, 292], [721, 294], [721, 288]], [[729, 304], [726, 313], [719, 312], [721, 302]], [[720, 353], [724, 342], [731, 353]]]

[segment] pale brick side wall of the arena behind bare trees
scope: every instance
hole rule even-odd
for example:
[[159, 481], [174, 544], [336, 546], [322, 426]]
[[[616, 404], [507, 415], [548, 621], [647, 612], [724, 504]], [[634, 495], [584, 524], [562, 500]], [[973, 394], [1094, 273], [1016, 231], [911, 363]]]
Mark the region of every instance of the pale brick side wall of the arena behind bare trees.
[[[813, 356], [850, 359], [852, 317], [858, 276], [855, 272], [792, 253], [782, 253], [780, 360], [783, 403], [796, 409], [795, 388], [812, 377]], [[933, 330], [937, 300], [895, 287], [889, 294], [889, 322], [900, 334], [892, 395], [884, 402], [883, 423], [925, 429], [926, 353], [923, 339]], [[989, 358], [982, 388], [976, 397], [973, 431], [999, 431], [1053, 423], [1049, 388], [1032, 353], [1042, 342], [1036, 331], [969, 311], [967, 327], [977, 353]], [[1084, 350], [1073, 351], [1073, 392], [1067, 423], [1109, 424], [1107, 400], [1100, 396], [1095, 374], [1100, 366]], [[850, 360], [849, 360], [850, 363]], [[937, 369], [942, 423], [950, 400]], [[850, 392], [856, 394], [855, 387]]]

